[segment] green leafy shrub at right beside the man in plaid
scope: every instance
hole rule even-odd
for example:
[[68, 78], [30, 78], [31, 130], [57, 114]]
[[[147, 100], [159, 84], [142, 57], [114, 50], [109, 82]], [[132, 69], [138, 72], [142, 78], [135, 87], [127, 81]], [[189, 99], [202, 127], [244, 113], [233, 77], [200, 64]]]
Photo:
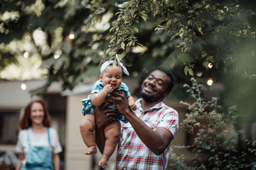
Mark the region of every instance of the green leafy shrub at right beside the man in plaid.
[[246, 161], [248, 152], [256, 153], [256, 141], [247, 141], [248, 152], [237, 150], [237, 139], [243, 131], [234, 128], [239, 114], [236, 106], [228, 108], [227, 113], [221, 112], [218, 98], [204, 101], [202, 92], [195, 78], [191, 78], [192, 85], [185, 84], [194, 103], [181, 101], [188, 107], [189, 113], [180, 124], [180, 129], [195, 136], [189, 146], [175, 146], [175, 148], [190, 148], [195, 154], [193, 162], [185, 162], [184, 155], [178, 157], [170, 153], [170, 167], [172, 169], [251, 169], [253, 162]]

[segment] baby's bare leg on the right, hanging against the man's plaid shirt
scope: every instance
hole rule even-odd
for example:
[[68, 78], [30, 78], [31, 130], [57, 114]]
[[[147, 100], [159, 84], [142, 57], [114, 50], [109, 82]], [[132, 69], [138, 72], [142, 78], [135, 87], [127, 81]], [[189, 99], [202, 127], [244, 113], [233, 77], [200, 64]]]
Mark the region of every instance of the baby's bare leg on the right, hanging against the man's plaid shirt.
[[115, 151], [116, 145], [120, 137], [120, 122], [118, 120], [112, 122], [104, 129], [106, 142], [103, 150], [103, 155], [100, 159], [99, 166], [105, 168], [108, 164], [108, 159]]

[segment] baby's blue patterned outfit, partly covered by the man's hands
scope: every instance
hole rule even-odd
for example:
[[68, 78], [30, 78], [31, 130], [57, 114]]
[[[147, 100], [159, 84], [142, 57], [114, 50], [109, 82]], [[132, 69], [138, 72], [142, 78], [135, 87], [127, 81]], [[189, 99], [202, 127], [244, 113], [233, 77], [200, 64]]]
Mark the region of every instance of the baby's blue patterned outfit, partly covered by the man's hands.
[[[94, 83], [93, 87], [92, 87], [92, 92], [91, 94], [88, 96], [87, 99], [82, 99], [81, 102], [83, 103], [83, 110], [82, 110], [82, 113], [83, 115], [86, 115], [87, 113], [93, 113], [93, 105], [92, 105], [92, 102], [91, 102], [91, 95], [93, 93], [99, 93], [100, 90], [102, 90], [104, 87], [103, 83], [101, 80], [98, 80], [96, 81], [96, 83]], [[131, 94], [129, 93], [129, 88], [127, 87], [127, 85], [125, 85], [125, 83], [121, 83], [120, 87], [118, 87], [118, 89], [115, 89], [115, 90], [120, 90], [122, 92], [124, 92], [125, 96], [126, 97], [129, 97]], [[113, 96], [113, 94], [108, 94], [108, 97], [111, 97]], [[100, 108], [101, 106], [103, 105], [103, 103], [98, 106], [98, 108]], [[115, 106], [108, 106], [108, 108], [111, 108], [111, 109], [115, 109], [116, 110], [116, 107]], [[123, 122], [127, 123], [128, 120], [127, 118], [120, 114], [116, 120], [122, 120]]]

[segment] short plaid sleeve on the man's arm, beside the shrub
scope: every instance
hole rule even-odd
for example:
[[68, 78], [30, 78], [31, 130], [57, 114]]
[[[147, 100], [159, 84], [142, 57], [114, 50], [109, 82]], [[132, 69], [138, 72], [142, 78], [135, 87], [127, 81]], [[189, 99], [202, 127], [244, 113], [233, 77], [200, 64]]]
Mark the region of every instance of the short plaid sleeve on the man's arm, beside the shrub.
[[161, 122], [157, 127], [164, 127], [168, 131], [172, 132], [172, 135], [174, 136], [179, 129], [178, 112], [173, 110], [173, 108], [166, 109], [164, 111], [163, 117], [161, 118]]

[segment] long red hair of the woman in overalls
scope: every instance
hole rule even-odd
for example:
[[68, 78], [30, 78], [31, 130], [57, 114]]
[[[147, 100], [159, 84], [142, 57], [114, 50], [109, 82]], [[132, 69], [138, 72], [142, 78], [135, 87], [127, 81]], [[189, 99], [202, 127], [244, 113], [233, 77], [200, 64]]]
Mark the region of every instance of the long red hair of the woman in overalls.
[[31, 115], [31, 107], [34, 103], [40, 103], [42, 104], [43, 108], [44, 108], [44, 120], [43, 120], [43, 124], [47, 127], [51, 127], [51, 116], [46, 108], [46, 105], [44, 103], [44, 101], [41, 100], [35, 100], [35, 101], [31, 101], [25, 108], [25, 112], [24, 115], [22, 116], [22, 118], [20, 119], [20, 129], [27, 129], [28, 127], [31, 127], [32, 125], [32, 121], [30, 118]]

